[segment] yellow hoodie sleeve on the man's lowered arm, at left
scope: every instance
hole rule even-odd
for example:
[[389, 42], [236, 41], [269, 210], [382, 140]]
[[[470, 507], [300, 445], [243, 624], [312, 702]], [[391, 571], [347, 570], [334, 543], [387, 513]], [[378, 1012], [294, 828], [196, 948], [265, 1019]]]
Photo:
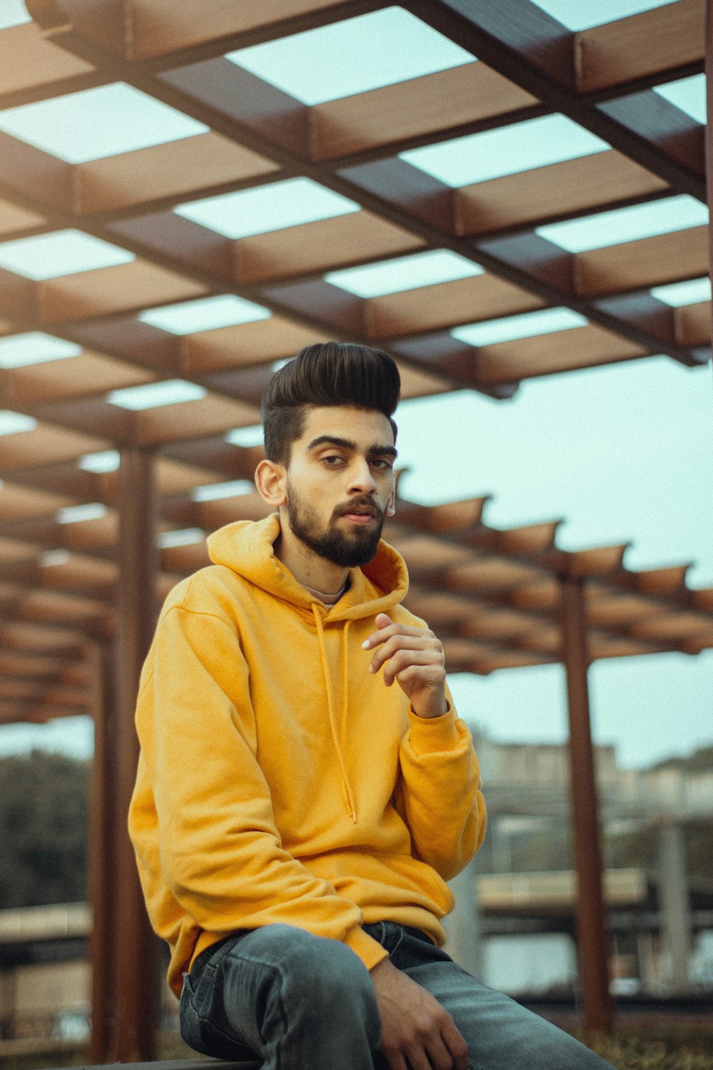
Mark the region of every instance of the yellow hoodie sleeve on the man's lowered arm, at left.
[[[129, 828], [161, 935], [175, 906], [152, 899], [151, 889], [167, 882], [181, 911], [217, 936], [284, 922], [346, 943], [368, 968], [384, 957], [361, 929], [360, 910], [282, 847], [257, 760], [248, 666], [230, 622], [181, 605], [164, 614], [137, 728]], [[160, 880], [149, 872], [157, 865]]]

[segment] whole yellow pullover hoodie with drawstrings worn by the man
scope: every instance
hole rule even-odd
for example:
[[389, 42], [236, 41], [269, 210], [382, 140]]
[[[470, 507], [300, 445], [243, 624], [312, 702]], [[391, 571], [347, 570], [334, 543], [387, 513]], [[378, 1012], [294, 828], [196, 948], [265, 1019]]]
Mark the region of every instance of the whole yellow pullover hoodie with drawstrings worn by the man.
[[285, 922], [386, 952], [391, 920], [441, 944], [446, 881], [482, 841], [478, 763], [452, 710], [425, 720], [361, 649], [400, 606], [406, 567], [381, 542], [336, 606], [275, 556], [277, 515], [208, 538], [214, 565], [170, 594], [143, 667], [129, 832], [169, 983], [237, 929]]

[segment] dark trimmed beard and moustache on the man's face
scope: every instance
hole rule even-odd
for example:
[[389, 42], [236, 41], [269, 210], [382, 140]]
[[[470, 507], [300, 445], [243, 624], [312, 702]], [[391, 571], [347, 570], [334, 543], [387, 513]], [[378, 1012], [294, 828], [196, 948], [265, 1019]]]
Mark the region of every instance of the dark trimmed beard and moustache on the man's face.
[[[337, 506], [324, 528], [321, 528], [314, 509], [300, 502], [293, 490], [289, 491], [286, 504], [288, 520], [293, 534], [320, 557], [326, 557], [341, 568], [356, 568], [368, 564], [376, 553], [385, 515], [373, 499], [363, 494], [357, 495], [347, 504]], [[375, 526], [370, 524], [368, 528], [357, 528], [353, 532], [339, 529], [338, 519], [357, 505], [368, 505], [376, 510]]]

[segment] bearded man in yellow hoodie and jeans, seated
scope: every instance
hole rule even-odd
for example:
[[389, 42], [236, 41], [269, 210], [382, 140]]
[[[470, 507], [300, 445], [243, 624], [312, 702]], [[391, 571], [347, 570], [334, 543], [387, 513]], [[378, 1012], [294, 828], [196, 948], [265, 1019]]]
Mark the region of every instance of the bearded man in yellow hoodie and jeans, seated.
[[440, 950], [485, 830], [440, 642], [403, 608], [399, 373], [308, 347], [263, 399], [275, 510], [208, 538], [141, 677], [129, 827], [182, 1033], [265, 1070], [604, 1067]]

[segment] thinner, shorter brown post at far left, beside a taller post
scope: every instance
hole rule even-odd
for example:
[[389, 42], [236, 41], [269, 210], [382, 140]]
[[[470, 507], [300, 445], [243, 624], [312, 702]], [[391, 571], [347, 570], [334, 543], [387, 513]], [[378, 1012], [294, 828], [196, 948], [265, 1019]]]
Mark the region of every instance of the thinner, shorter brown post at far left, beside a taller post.
[[89, 899], [92, 906], [92, 1036], [89, 1060], [108, 1063], [113, 1018], [113, 932], [115, 896], [112, 813], [112, 658], [105, 644], [87, 651], [94, 718], [94, 761], [90, 790]]

